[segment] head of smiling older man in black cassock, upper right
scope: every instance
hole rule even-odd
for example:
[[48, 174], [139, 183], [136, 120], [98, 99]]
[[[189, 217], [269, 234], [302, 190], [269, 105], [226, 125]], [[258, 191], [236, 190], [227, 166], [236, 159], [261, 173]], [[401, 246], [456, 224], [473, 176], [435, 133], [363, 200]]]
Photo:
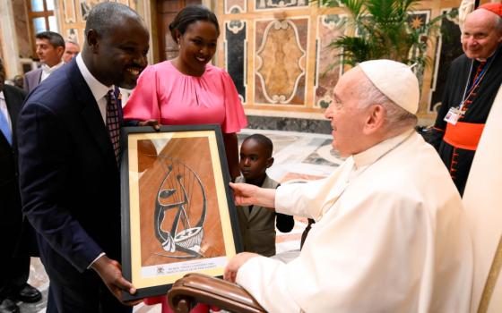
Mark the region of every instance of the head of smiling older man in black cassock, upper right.
[[489, 10], [469, 13], [463, 24], [462, 48], [467, 57], [486, 60], [502, 42], [502, 19]]

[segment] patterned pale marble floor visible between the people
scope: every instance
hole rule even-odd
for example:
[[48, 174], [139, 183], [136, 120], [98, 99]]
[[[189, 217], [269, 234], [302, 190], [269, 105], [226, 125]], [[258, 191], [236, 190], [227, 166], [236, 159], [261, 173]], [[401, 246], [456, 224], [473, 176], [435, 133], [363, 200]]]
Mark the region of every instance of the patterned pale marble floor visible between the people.
[[[291, 131], [243, 130], [238, 135], [239, 144], [253, 133], [263, 133], [273, 141], [273, 166], [268, 174], [278, 182], [315, 180], [333, 172], [342, 159], [333, 151], [331, 135]], [[295, 227], [290, 233], [278, 233], [277, 253], [283, 259], [294, 258], [299, 253], [299, 240], [307, 223], [305, 218], [295, 217]], [[43, 313], [47, 304], [48, 277], [39, 258], [32, 258], [30, 281], [43, 292], [43, 299], [36, 304], [20, 302], [21, 313]], [[135, 313], [160, 313], [160, 305], [134, 307]]]

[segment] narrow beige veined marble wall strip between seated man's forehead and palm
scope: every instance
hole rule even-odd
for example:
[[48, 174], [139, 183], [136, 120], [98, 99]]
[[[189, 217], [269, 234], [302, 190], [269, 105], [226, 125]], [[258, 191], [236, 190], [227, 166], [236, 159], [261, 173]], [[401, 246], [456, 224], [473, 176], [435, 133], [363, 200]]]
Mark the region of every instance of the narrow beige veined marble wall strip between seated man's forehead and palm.
[[339, 14], [321, 15], [317, 19], [316, 38], [316, 107], [326, 108], [333, 102], [333, 88], [341, 76], [340, 49], [329, 44], [343, 36], [344, 17]]

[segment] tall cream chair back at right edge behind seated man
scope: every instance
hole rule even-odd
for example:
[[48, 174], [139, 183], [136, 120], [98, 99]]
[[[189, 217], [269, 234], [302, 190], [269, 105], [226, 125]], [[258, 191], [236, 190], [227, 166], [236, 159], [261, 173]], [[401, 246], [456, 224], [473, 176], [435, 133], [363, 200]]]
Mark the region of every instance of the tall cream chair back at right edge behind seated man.
[[502, 88], [491, 107], [463, 193], [471, 226], [471, 312], [502, 312]]

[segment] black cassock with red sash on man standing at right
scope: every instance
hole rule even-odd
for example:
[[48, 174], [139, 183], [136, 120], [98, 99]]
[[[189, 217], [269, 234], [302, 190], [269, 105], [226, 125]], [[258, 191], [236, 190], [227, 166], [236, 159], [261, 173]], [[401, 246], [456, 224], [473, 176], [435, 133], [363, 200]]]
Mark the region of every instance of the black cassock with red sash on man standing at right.
[[[472, 60], [466, 55], [454, 60], [448, 72], [443, 102], [431, 130], [429, 142], [445, 162], [461, 195], [489, 110], [502, 82], [501, 50], [502, 45], [498, 45], [494, 55], [485, 62]], [[463, 98], [463, 114], [458, 122], [446, 123], [444, 119], [450, 108], [458, 107]]]

